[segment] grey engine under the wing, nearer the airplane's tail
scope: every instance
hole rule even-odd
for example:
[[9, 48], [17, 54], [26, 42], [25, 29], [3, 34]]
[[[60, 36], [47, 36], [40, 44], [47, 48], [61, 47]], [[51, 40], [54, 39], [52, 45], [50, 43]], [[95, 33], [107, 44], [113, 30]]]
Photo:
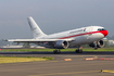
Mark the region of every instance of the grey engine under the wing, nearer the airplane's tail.
[[56, 49], [66, 49], [68, 48], [68, 42], [64, 40], [59, 40], [55, 42], [54, 48]]

